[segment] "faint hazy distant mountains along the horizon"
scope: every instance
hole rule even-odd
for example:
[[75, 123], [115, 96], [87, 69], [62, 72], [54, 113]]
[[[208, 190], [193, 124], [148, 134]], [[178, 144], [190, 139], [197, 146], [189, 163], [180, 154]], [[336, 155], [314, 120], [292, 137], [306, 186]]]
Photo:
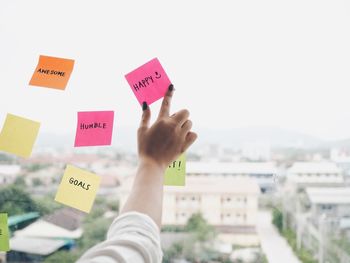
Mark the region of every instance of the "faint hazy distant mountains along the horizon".
[[[264, 143], [272, 148], [332, 148], [350, 149], [350, 139], [326, 141], [304, 133], [275, 127], [245, 127], [237, 129], [196, 129], [198, 140], [194, 145], [218, 144], [225, 148], [239, 149], [247, 144]], [[73, 147], [75, 135], [40, 134], [38, 147]], [[118, 128], [112, 139], [113, 147], [125, 151], [136, 151], [136, 128]]]

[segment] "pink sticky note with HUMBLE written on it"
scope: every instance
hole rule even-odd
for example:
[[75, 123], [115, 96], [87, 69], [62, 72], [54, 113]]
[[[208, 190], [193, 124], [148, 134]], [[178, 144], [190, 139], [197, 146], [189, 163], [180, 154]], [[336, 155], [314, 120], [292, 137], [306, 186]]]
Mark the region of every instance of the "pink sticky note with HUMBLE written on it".
[[78, 112], [75, 147], [111, 145], [114, 111]]

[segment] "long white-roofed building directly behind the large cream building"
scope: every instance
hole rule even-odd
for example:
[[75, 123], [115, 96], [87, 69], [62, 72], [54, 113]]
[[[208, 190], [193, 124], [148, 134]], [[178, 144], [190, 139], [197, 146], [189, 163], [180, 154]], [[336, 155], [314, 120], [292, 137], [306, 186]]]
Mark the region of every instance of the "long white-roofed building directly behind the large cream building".
[[251, 177], [262, 193], [275, 189], [277, 168], [272, 162], [187, 162], [188, 175]]

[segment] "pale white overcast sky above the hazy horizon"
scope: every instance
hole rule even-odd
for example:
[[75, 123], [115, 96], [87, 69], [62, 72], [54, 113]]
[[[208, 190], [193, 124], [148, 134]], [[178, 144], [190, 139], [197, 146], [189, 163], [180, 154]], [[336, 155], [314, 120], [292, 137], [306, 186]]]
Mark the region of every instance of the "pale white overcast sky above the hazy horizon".
[[[40, 54], [75, 59], [66, 91], [28, 86]], [[77, 111], [115, 110], [116, 132], [136, 127], [124, 74], [153, 57], [194, 128], [350, 137], [346, 0], [0, 0], [0, 121], [11, 112], [74, 133]]]

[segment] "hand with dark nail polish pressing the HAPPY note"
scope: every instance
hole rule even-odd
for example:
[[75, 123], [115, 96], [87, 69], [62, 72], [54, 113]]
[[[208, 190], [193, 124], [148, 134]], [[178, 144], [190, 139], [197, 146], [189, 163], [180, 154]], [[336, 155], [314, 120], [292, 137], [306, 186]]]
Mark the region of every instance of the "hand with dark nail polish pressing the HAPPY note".
[[192, 122], [188, 119], [188, 110], [169, 116], [173, 85], [163, 98], [158, 119], [149, 127], [151, 110], [143, 103], [143, 114], [138, 129], [138, 152], [141, 161], [152, 162], [165, 169], [172, 161], [197, 139], [197, 134], [191, 132]]

